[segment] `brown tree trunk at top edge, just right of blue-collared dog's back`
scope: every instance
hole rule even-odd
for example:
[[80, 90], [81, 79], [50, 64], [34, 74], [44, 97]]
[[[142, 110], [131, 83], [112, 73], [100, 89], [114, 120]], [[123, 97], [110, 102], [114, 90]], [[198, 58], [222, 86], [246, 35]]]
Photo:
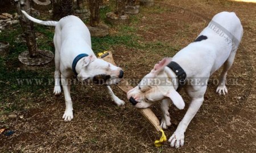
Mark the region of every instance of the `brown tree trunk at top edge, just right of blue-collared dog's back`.
[[100, 7], [98, 0], [89, 0], [90, 25], [96, 27], [100, 23]]

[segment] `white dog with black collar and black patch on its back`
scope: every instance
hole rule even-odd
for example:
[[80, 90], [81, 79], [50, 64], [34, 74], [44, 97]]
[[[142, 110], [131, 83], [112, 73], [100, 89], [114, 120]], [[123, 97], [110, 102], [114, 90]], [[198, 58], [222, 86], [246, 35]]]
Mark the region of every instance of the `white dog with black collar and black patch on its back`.
[[232, 66], [242, 35], [243, 28], [236, 14], [221, 12], [213, 17], [194, 42], [181, 49], [173, 58], [164, 58], [144, 76], [137, 87], [127, 92], [127, 98], [137, 108], [147, 108], [155, 101], [162, 100], [163, 118], [160, 126], [166, 129], [171, 125], [168, 112], [170, 100], [179, 109], [185, 106], [176, 91], [185, 83], [184, 88], [191, 97], [191, 104], [168, 140], [172, 147], [184, 145], [187, 126], [204, 101], [207, 80], [222, 65], [224, 67], [216, 92], [223, 95], [228, 92], [225, 86], [226, 75]]

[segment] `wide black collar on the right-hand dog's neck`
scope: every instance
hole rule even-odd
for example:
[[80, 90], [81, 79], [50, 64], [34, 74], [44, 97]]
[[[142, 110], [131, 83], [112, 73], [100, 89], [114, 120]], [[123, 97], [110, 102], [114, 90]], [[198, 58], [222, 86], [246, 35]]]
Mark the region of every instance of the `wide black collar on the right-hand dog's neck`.
[[185, 82], [187, 79], [187, 74], [180, 67], [180, 65], [174, 61], [168, 63], [167, 67], [169, 67], [176, 74], [178, 82], [179, 82], [177, 91], [179, 91], [181, 89], [181, 87], [185, 85]]

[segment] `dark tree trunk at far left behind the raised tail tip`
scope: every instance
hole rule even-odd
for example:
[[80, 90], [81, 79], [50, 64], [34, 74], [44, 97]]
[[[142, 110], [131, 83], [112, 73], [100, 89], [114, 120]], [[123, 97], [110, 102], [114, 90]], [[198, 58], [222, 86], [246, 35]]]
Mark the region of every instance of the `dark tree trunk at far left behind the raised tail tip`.
[[16, 11], [19, 16], [19, 22], [22, 25], [22, 31], [25, 34], [27, 41], [28, 52], [30, 57], [35, 57], [38, 55], [38, 46], [36, 45], [36, 36], [34, 32], [34, 24], [26, 18], [21, 12], [24, 10], [27, 14], [31, 14], [31, 7], [29, 0], [14, 0]]

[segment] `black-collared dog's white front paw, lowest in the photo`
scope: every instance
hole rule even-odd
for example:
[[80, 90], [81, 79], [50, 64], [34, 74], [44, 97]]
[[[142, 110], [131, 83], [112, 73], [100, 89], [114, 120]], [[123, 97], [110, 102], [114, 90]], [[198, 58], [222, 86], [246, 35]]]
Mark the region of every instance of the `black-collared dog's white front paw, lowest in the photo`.
[[184, 133], [175, 131], [172, 134], [172, 137], [168, 140], [170, 142], [171, 147], [179, 148], [184, 145]]

